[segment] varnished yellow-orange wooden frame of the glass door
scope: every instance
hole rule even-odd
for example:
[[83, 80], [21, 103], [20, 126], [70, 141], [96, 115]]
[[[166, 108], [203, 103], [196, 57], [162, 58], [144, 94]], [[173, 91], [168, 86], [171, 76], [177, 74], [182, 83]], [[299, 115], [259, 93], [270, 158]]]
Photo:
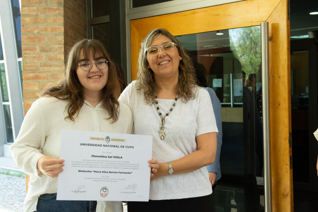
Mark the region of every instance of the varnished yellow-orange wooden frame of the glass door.
[[[140, 43], [151, 29], [173, 35], [201, 33], [269, 23], [269, 92], [272, 210], [293, 211], [290, 169], [290, 28], [288, 0], [246, 0], [173, 14], [130, 20], [131, 79], [136, 79]], [[129, 57], [128, 57], [129, 58]]]

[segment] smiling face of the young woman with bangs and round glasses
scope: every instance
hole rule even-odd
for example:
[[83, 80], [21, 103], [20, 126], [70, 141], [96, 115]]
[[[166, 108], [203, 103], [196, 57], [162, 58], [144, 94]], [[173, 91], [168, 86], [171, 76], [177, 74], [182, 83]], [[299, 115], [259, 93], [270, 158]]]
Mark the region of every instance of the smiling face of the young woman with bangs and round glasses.
[[[79, 54], [79, 64], [83, 60], [88, 60], [91, 62], [96, 62], [102, 58], [101, 54], [97, 54], [96, 58], [92, 52], [89, 54], [89, 58], [84, 58], [83, 51]], [[108, 80], [108, 65], [104, 69], [99, 69], [96, 63], [92, 63], [92, 68], [89, 71], [83, 71], [80, 65], [76, 66], [76, 74], [79, 79], [80, 84], [83, 86], [84, 96], [89, 98], [90, 96], [95, 96], [96, 94], [101, 94], [101, 90], [107, 84]]]

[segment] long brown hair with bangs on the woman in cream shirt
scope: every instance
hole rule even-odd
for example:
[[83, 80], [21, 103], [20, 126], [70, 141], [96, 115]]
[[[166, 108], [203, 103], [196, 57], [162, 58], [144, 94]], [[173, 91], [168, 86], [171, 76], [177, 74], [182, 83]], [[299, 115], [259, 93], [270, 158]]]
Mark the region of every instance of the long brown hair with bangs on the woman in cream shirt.
[[75, 71], [79, 63], [81, 51], [83, 51], [84, 58], [89, 58], [90, 54], [93, 53], [95, 58], [101, 55], [108, 61], [108, 80], [106, 86], [102, 89], [101, 99], [103, 100], [104, 108], [109, 113], [109, 117], [106, 119], [112, 119], [111, 123], [114, 123], [118, 120], [119, 115], [119, 102], [117, 99], [120, 95], [120, 85], [114, 63], [109, 58], [104, 46], [98, 40], [82, 39], [76, 42], [68, 53], [64, 79], [59, 82], [59, 85], [45, 89], [40, 95], [68, 99], [70, 102], [65, 108], [68, 116], [65, 119], [75, 121], [85, 99], [83, 86], [80, 84]]

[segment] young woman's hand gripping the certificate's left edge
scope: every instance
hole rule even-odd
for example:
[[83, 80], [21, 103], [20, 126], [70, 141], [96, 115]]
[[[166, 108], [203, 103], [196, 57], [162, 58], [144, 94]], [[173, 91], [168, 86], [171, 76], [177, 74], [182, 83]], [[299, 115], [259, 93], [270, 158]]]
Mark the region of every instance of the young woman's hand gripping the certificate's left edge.
[[49, 156], [40, 157], [37, 163], [38, 170], [40, 170], [43, 174], [51, 178], [58, 177], [59, 173], [61, 173], [64, 170], [62, 168], [63, 166], [63, 159], [56, 159]]

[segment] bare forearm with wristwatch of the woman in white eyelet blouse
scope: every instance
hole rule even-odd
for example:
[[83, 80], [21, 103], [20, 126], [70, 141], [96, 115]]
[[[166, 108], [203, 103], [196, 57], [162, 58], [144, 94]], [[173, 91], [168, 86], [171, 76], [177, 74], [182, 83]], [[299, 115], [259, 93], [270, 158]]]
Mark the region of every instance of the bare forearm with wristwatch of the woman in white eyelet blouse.
[[[194, 151], [178, 160], [170, 161], [174, 170], [173, 174], [189, 173], [214, 162], [217, 149], [216, 133], [213, 132], [198, 135], [196, 137], [196, 141], [197, 151]], [[159, 165], [159, 168], [156, 173], [153, 173], [150, 180], [169, 174], [168, 163], [158, 162], [157, 165]]]

